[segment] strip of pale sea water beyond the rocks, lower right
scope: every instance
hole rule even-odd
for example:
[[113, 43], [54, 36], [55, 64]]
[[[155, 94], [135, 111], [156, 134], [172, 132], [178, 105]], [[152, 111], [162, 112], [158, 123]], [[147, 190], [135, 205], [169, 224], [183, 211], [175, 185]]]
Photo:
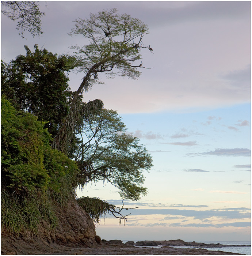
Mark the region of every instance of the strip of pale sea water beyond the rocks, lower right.
[[[143, 240], [136, 240], [137, 241], [143, 241]], [[123, 243], [127, 242], [126, 240], [123, 241]], [[186, 242], [192, 242], [192, 241], [186, 241]], [[195, 241], [195, 242], [202, 242], [205, 244], [232, 244], [232, 245], [251, 245], [250, 241], [247, 242], [236, 242], [236, 241]], [[171, 246], [171, 245], [170, 245]], [[137, 246], [137, 247], [144, 247], [144, 246]], [[146, 246], [145, 246], [146, 247]], [[150, 246], [153, 248], [160, 248], [161, 246]], [[191, 248], [191, 246], [171, 246], [173, 248]], [[228, 247], [219, 247], [219, 248], [205, 248], [209, 251], [223, 251], [223, 252], [234, 252], [234, 253], [241, 253], [245, 255], [251, 255], [251, 247], [250, 246], [242, 246], [242, 247], [234, 247], [234, 246], [228, 246]]]

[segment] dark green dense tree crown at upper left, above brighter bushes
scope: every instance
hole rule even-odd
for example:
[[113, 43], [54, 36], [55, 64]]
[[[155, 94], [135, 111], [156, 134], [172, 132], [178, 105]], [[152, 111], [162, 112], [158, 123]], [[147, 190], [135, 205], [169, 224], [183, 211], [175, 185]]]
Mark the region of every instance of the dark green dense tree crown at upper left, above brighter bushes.
[[16, 109], [28, 111], [38, 120], [46, 121], [45, 128], [55, 136], [69, 110], [71, 92], [66, 71], [73, 68], [73, 60], [38, 49], [26, 56], [19, 55], [11, 63], [2, 62], [1, 91]]

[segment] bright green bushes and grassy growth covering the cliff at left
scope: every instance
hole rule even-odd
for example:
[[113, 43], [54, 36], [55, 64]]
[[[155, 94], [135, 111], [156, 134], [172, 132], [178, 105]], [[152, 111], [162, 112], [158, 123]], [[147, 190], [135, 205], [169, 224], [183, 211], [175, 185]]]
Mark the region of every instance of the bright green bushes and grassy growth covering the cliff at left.
[[44, 122], [1, 99], [1, 221], [11, 232], [37, 231], [44, 218], [56, 225], [53, 202], [75, 194], [76, 163], [50, 147]]

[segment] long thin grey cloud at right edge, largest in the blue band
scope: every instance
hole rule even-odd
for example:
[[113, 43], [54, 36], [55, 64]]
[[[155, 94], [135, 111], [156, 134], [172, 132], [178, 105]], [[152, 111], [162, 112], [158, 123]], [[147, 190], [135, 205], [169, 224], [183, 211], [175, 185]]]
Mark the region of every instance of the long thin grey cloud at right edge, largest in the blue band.
[[217, 148], [214, 151], [203, 153], [188, 153], [187, 155], [218, 155], [232, 157], [250, 157], [251, 150], [248, 148]]

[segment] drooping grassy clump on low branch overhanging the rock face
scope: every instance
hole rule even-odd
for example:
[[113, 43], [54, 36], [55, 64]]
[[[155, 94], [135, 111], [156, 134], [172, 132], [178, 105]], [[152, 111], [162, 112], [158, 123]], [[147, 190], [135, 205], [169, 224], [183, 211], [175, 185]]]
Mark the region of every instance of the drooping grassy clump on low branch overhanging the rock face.
[[95, 224], [100, 222], [103, 215], [115, 211], [115, 208], [117, 208], [113, 204], [100, 200], [99, 197], [82, 196], [77, 199], [77, 203], [87, 212]]

